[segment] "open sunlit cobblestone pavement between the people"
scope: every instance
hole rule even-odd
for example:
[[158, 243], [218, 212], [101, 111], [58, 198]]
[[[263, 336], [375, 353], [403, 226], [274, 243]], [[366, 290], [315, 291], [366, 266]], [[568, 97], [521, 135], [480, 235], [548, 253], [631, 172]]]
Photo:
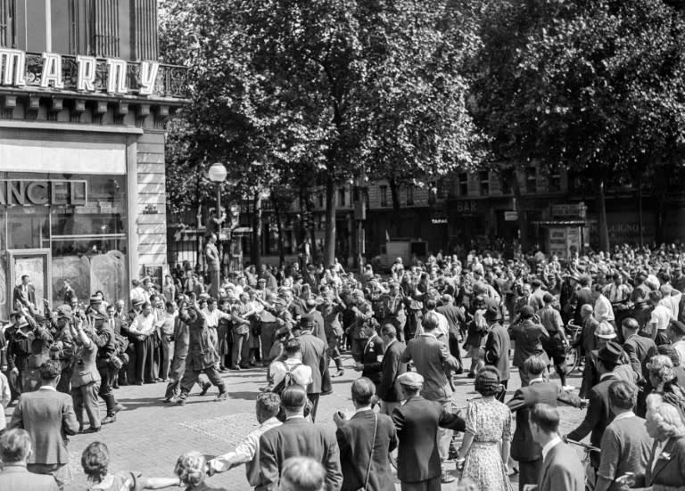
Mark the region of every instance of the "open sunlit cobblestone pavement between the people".
[[[333, 379], [334, 393], [321, 397], [318, 408], [318, 424], [334, 428], [333, 413], [337, 409], [351, 409], [350, 384], [359, 377], [351, 370], [351, 359], [345, 359], [347, 370], [344, 376]], [[466, 362], [468, 366], [468, 362]], [[109, 446], [111, 471], [142, 471], [148, 477], [173, 476], [177, 456], [190, 450], [203, 454], [217, 455], [232, 450], [236, 443], [257, 425], [254, 416], [254, 400], [259, 388], [264, 384], [263, 369], [227, 372], [223, 374], [230, 398], [225, 402], [214, 402], [217, 389], [200, 397], [199, 389], [194, 389], [185, 406], [162, 403], [165, 384], [121, 387], [115, 391], [126, 411], [118, 415], [118, 421], [103, 426], [97, 434], [78, 435], [70, 439], [69, 449], [73, 482], [67, 490], [86, 489], [86, 479], [80, 468], [80, 454], [91, 442], [100, 440]], [[555, 381], [556, 378], [555, 378]], [[558, 381], [557, 381], [558, 383]], [[580, 374], [574, 373], [569, 383], [580, 385]], [[465, 407], [466, 401], [476, 397], [473, 380], [459, 376], [454, 405]], [[520, 386], [516, 370], [509, 381], [508, 395]], [[102, 406], [102, 410], [104, 407]], [[562, 430], [568, 432], [582, 420], [583, 413], [573, 407], [562, 407]], [[8, 410], [8, 415], [12, 408]], [[448, 464], [454, 471], [454, 464]], [[230, 491], [249, 489], [244, 469], [238, 468], [209, 479], [210, 486], [226, 487]], [[399, 484], [397, 488], [400, 489]], [[445, 485], [442, 489], [450, 491], [455, 484]], [[516, 488], [516, 485], [515, 485]]]

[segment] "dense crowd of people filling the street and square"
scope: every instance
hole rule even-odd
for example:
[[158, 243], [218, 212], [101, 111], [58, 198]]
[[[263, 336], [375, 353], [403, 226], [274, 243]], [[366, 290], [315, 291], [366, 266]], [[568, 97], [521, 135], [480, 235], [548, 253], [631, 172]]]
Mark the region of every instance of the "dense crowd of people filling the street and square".
[[[202, 393], [214, 385], [222, 401], [225, 373], [260, 364], [260, 427], [234, 451], [209, 462], [183, 455], [177, 479], [164, 480], [110, 473], [106, 446], [94, 444], [82, 459], [94, 488], [173, 481], [201, 489], [207, 476], [244, 464], [256, 489], [389, 490], [395, 462], [402, 489], [432, 490], [458, 479], [452, 461], [465, 489], [508, 490], [512, 474], [521, 490], [683, 487], [682, 246], [567, 260], [540, 251], [441, 252], [410, 265], [398, 258], [382, 274], [369, 265], [348, 273], [336, 261], [221, 277], [215, 241], [207, 243], [206, 274], [186, 264], [161, 285], [135, 281], [130, 309], [101, 292], [85, 306], [68, 291], [63, 305], [39, 313], [30, 278], [22, 278], [0, 338], [3, 405], [18, 399], [0, 452], [21, 456], [18, 448], [32, 445], [28, 471], [61, 485], [64, 436], [115, 422], [125, 409], [114, 396], [120, 385], [166, 382], [160, 397], [178, 405], [195, 384]], [[352, 358], [345, 367], [344, 352]], [[567, 380], [569, 353], [582, 360], [577, 393]], [[520, 388], [509, 386], [512, 367]], [[354, 412], [336, 413], [333, 432], [313, 422], [345, 368], [360, 373]], [[460, 378], [474, 379], [480, 397], [456, 410]], [[566, 435], [559, 404], [585, 411]], [[48, 412], [54, 420], [37, 417]], [[46, 424], [57, 425], [56, 437]], [[585, 469], [572, 446], [587, 436]], [[22, 462], [12, 458], [3, 461]], [[4, 489], [2, 479], [4, 471]]]

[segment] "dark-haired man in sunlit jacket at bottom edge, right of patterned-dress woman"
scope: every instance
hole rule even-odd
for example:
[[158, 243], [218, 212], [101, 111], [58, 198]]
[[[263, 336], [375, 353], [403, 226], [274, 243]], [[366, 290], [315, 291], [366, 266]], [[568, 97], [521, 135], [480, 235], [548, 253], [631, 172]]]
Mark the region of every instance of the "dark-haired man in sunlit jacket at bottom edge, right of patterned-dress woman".
[[536, 491], [584, 491], [585, 470], [574, 449], [559, 437], [559, 413], [547, 404], [532, 406], [532, 439], [541, 447], [542, 469]]

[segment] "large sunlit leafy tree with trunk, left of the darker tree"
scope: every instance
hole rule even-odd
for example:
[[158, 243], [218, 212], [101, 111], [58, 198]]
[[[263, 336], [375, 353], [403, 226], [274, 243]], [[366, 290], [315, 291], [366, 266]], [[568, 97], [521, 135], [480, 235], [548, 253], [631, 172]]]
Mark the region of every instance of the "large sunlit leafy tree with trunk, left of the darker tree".
[[237, 162], [244, 176], [254, 161], [268, 165], [252, 172], [260, 188], [285, 178], [324, 184], [332, 264], [338, 184], [391, 166], [402, 177], [442, 174], [469, 160], [465, 84], [450, 66], [463, 48], [445, 22], [449, 7], [170, 0], [163, 47], [191, 69], [193, 103], [183, 117], [202, 142], [193, 148]]

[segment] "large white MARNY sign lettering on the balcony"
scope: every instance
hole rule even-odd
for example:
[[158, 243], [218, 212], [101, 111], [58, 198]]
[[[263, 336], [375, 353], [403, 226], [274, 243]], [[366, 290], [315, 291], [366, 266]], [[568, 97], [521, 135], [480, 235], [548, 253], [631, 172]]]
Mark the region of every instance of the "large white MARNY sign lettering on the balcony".
[[[136, 87], [128, 86], [128, 61], [105, 58], [98, 60], [95, 56], [78, 55], [68, 57], [70, 62], [76, 63], [76, 84], [69, 80], [69, 87], [78, 92], [100, 92], [107, 94], [128, 94], [135, 92], [139, 95], [153, 94], [160, 64], [157, 61], [141, 61], [136, 72]], [[39, 72], [27, 70], [27, 53], [16, 49], [0, 49], [0, 86], [40, 86], [42, 88], [65, 89], [65, 66], [62, 55], [58, 53], [43, 53]], [[138, 65], [136, 63], [136, 65]], [[36, 83], [27, 80], [29, 77], [39, 78]], [[106, 78], [106, 81], [103, 81]]]

